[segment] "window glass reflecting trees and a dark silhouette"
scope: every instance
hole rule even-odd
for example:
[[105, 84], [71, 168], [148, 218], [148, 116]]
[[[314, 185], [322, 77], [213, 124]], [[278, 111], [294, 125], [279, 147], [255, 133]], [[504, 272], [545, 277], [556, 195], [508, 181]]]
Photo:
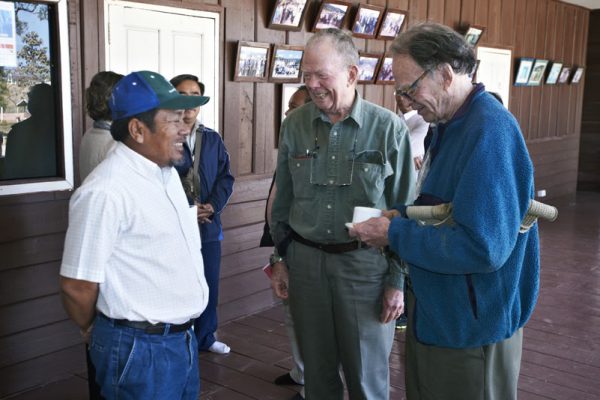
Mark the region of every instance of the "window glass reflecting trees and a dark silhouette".
[[0, 184], [60, 175], [56, 4], [0, 1]]

